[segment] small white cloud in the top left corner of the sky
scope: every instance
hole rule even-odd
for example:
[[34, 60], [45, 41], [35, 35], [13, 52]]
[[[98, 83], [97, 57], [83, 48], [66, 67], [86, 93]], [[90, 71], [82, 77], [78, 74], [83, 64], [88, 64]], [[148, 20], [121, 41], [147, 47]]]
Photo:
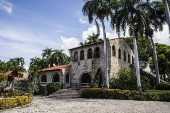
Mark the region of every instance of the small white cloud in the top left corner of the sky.
[[13, 11], [13, 4], [8, 0], [0, 0], [0, 10], [3, 10], [6, 13], [11, 14]]

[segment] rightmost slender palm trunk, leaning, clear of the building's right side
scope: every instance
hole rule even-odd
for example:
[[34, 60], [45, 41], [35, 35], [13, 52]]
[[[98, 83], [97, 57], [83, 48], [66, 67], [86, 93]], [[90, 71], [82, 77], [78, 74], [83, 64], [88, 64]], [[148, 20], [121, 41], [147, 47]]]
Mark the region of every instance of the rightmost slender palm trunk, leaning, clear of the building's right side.
[[158, 66], [158, 57], [157, 57], [157, 52], [155, 48], [155, 43], [153, 42], [153, 39], [149, 37], [151, 46], [152, 46], [152, 53], [153, 53], [153, 60], [154, 60], [154, 65], [155, 65], [155, 73], [156, 73], [156, 85], [160, 84], [160, 75], [159, 75], [159, 66]]

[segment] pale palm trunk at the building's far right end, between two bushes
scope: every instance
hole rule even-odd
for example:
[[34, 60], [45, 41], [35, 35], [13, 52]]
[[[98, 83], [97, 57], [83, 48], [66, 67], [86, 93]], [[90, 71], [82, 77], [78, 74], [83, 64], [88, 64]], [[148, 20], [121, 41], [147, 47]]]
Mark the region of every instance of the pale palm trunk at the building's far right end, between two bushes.
[[134, 46], [134, 64], [135, 64], [135, 73], [136, 73], [136, 79], [137, 79], [137, 88], [141, 92], [142, 86], [141, 86], [141, 79], [140, 79], [140, 67], [139, 67], [139, 56], [138, 56], [138, 45], [136, 38], [133, 38], [133, 46]]

